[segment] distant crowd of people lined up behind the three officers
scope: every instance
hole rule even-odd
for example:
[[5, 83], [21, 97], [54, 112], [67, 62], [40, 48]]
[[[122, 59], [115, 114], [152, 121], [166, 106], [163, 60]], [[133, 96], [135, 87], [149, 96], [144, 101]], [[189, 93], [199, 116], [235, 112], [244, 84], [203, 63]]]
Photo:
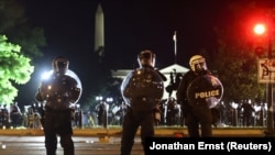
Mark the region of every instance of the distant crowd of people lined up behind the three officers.
[[[95, 109], [80, 112], [76, 109], [75, 119], [72, 124], [74, 128], [101, 128], [106, 119], [106, 125], [122, 125], [124, 114], [129, 108], [124, 101], [116, 103], [107, 103], [108, 109], [103, 108], [103, 101], [99, 102]], [[160, 102], [160, 122], [158, 126], [185, 126], [183, 111], [180, 104], [175, 98], [169, 97]], [[266, 126], [267, 103], [252, 102], [243, 100], [239, 103], [221, 101], [217, 109], [220, 119], [218, 124], [222, 126]], [[81, 114], [81, 120], [79, 117]], [[106, 115], [106, 117], [105, 117]], [[33, 106], [25, 106], [22, 110], [18, 106], [0, 107], [0, 129], [41, 129], [41, 113]], [[80, 122], [82, 121], [82, 122]]]

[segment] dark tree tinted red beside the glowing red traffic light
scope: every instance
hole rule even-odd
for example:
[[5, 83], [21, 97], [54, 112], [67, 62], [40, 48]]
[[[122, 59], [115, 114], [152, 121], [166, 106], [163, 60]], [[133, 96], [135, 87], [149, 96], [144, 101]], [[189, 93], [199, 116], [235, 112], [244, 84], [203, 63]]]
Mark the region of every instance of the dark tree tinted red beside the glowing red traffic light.
[[[252, 3], [232, 3], [223, 16], [227, 21], [215, 27], [218, 47], [207, 55], [208, 65], [223, 84], [224, 101], [264, 100], [265, 85], [257, 82], [257, 55], [252, 44], [252, 26], [248, 19], [260, 8]], [[254, 13], [253, 13], [254, 12]], [[250, 35], [248, 35], [250, 33]]]

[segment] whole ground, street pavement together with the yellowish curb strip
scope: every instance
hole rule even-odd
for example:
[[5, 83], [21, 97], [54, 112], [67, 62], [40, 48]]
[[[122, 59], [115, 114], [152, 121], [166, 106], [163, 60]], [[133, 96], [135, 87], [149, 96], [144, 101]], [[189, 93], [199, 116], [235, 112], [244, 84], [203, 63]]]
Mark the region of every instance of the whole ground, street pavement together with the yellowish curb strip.
[[[218, 128], [215, 136], [256, 136], [263, 137], [263, 128]], [[156, 136], [175, 136], [180, 133], [187, 136], [185, 128], [156, 128]], [[42, 130], [0, 130], [0, 155], [45, 155]], [[75, 129], [74, 142], [76, 155], [119, 155], [121, 129]], [[136, 134], [132, 155], [142, 155], [140, 131]], [[58, 144], [57, 155], [63, 155]]]

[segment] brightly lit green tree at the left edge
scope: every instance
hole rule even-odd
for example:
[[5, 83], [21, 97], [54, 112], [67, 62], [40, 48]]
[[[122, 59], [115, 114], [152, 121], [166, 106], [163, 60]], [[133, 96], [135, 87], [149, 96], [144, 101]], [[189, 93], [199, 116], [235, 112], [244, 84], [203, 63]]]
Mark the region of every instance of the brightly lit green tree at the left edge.
[[18, 96], [14, 84], [26, 84], [34, 66], [25, 57], [21, 46], [9, 43], [6, 35], [0, 35], [0, 104], [10, 104]]

